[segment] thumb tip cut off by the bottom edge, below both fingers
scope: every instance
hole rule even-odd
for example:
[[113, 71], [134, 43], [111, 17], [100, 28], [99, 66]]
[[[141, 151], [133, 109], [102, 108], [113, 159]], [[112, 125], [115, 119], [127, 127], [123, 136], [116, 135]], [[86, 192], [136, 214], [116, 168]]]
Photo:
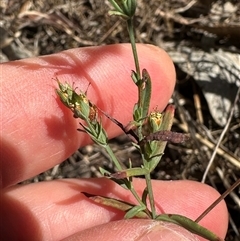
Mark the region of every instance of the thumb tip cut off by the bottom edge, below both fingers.
[[198, 241], [199, 239], [188, 230], [173, 223], [131, 219], [95, 226], [64, 240]]

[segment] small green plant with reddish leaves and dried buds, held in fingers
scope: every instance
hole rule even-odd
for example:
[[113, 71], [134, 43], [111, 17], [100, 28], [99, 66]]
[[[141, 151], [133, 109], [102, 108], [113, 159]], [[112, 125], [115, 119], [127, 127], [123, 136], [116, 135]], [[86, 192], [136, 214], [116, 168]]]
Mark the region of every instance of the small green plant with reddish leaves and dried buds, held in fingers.
[[[118, 15], [126, 21], [130, 36], [136, 68], [135, 71], [132, 71], [131, 77], [138, 90], [138, 101], [133, 107], [133, 121], [131, 121], [127, 127], [124, 127], [116, 119], [110, 117], [107, 113], [95, 106], [94, 103], [87, 98], [86, 93], [82, 91], [77, 93], [72, 86], [67, 83], [62, 84], [58, 79], [58, 89], [56, 91], [62, 103], [73, 112], [73, 116], [83, 120], [83, 122], [80, 123], [81, 128], [78, 130], [86, 132], [95, 143], [105, 148], [118, 170], [116, 173], [110, 173], [100, 168], [101, 173], [129, 190], [136, 198], [138, 205], [88, 193], [85, 193], [85, 195], [97, 203], [124, 211], [126, 213], [125, 218], [150, 218], [171, 222], [208, 240], [221, 240], [217, 235], [200, 226], [197, 223], [200, 219], [197, 219], [196, 222], [177, 214], [158, 215], [156, 213], [150, 173], [160, 162], [167, 141], [181, 143], [188, 139], [188, 135], [170, 131], [174, 117], [174, 106], [167, 106], [163, 113], [160, 113], [158, 110], [149, 113], [151, 78], [146, 69], [140, 71], [134, 36], [133, 17], [137, 5], [136, 0], [109, 0], [109, 2], [114, 8], [113, 11], [109, 12], [110, 15]], [[108, 144], [108, 136], [102, 126], [101, 118], [98, 115], [99, 112], [116, 123], [123, 132], [133, 140], [133, 145], [138, 149], [142, 157], [142, 165], [140, 167], [132, 168], [130, 162], [128, 169], [122, 168]], [[147, 128], [143, 130], [144, 124], [147, 125]], [[147, 129], [147, 131], [145, 129]], [[132, 185], [133, 177], [140, 175], [145, 176], [146, 180], [146, 188], [141, 196], [139, 196]]]

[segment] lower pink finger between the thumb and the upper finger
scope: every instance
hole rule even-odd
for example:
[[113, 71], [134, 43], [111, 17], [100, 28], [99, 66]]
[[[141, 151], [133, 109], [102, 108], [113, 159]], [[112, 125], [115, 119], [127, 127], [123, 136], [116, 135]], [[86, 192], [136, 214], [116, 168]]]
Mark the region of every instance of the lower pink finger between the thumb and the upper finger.
[[[138, 193], [145, 180], [134, 180]], [[195, 220], [219, 194], [207, 185], [191, 181], [153, 181], [158, 213], [181, 214]], [[63, 179], [12, 187], [3, 193], [3, 223], [6, 234], [60, 240], [97, 225], [123, 218], [124, 213], [97, 205], [81, 192], [103, 195], [136, 203], [129, 191], [112, 181], [99, 179]], [[227, 210], [224, 202], [214, 208], [201, 225], [224, 237]], [[14, 230], [14, 232], [11, 232]], [[14, 240], [11, 236], [6, 240]]]

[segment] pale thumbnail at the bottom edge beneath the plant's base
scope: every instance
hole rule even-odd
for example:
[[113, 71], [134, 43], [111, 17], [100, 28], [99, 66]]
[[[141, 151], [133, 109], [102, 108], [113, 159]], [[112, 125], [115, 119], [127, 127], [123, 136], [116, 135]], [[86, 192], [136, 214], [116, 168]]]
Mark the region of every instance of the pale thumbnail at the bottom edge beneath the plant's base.
[[139, 236], [137, 241], [199, 241], [185, 228], [173, 223], [154, 222], [153, 225]]

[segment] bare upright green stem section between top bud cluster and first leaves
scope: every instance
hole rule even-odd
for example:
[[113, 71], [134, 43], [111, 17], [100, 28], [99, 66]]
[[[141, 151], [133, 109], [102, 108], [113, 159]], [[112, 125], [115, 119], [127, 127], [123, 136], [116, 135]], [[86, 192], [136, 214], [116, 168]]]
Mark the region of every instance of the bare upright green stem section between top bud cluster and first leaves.
[[127, 27], [128, 27], [128, 33], [129, 33], [130, 42], [131, 42], [131, 46], [132, 46], [132, 52], [133, 52], [133, 57], [134, 57], [134, 62], [135, 62], [136, 73], [138, 75], [138, 79], [140, 79], [141, 78], [141, 72], [140, 72], [140, 66], [139, 66], [139, 61], [138, 61], [137, 48], [136, 48], [135, 35], [134, 35], [134, 25], [133, 25], [133, 19], [132, 18], [127, 20]]

